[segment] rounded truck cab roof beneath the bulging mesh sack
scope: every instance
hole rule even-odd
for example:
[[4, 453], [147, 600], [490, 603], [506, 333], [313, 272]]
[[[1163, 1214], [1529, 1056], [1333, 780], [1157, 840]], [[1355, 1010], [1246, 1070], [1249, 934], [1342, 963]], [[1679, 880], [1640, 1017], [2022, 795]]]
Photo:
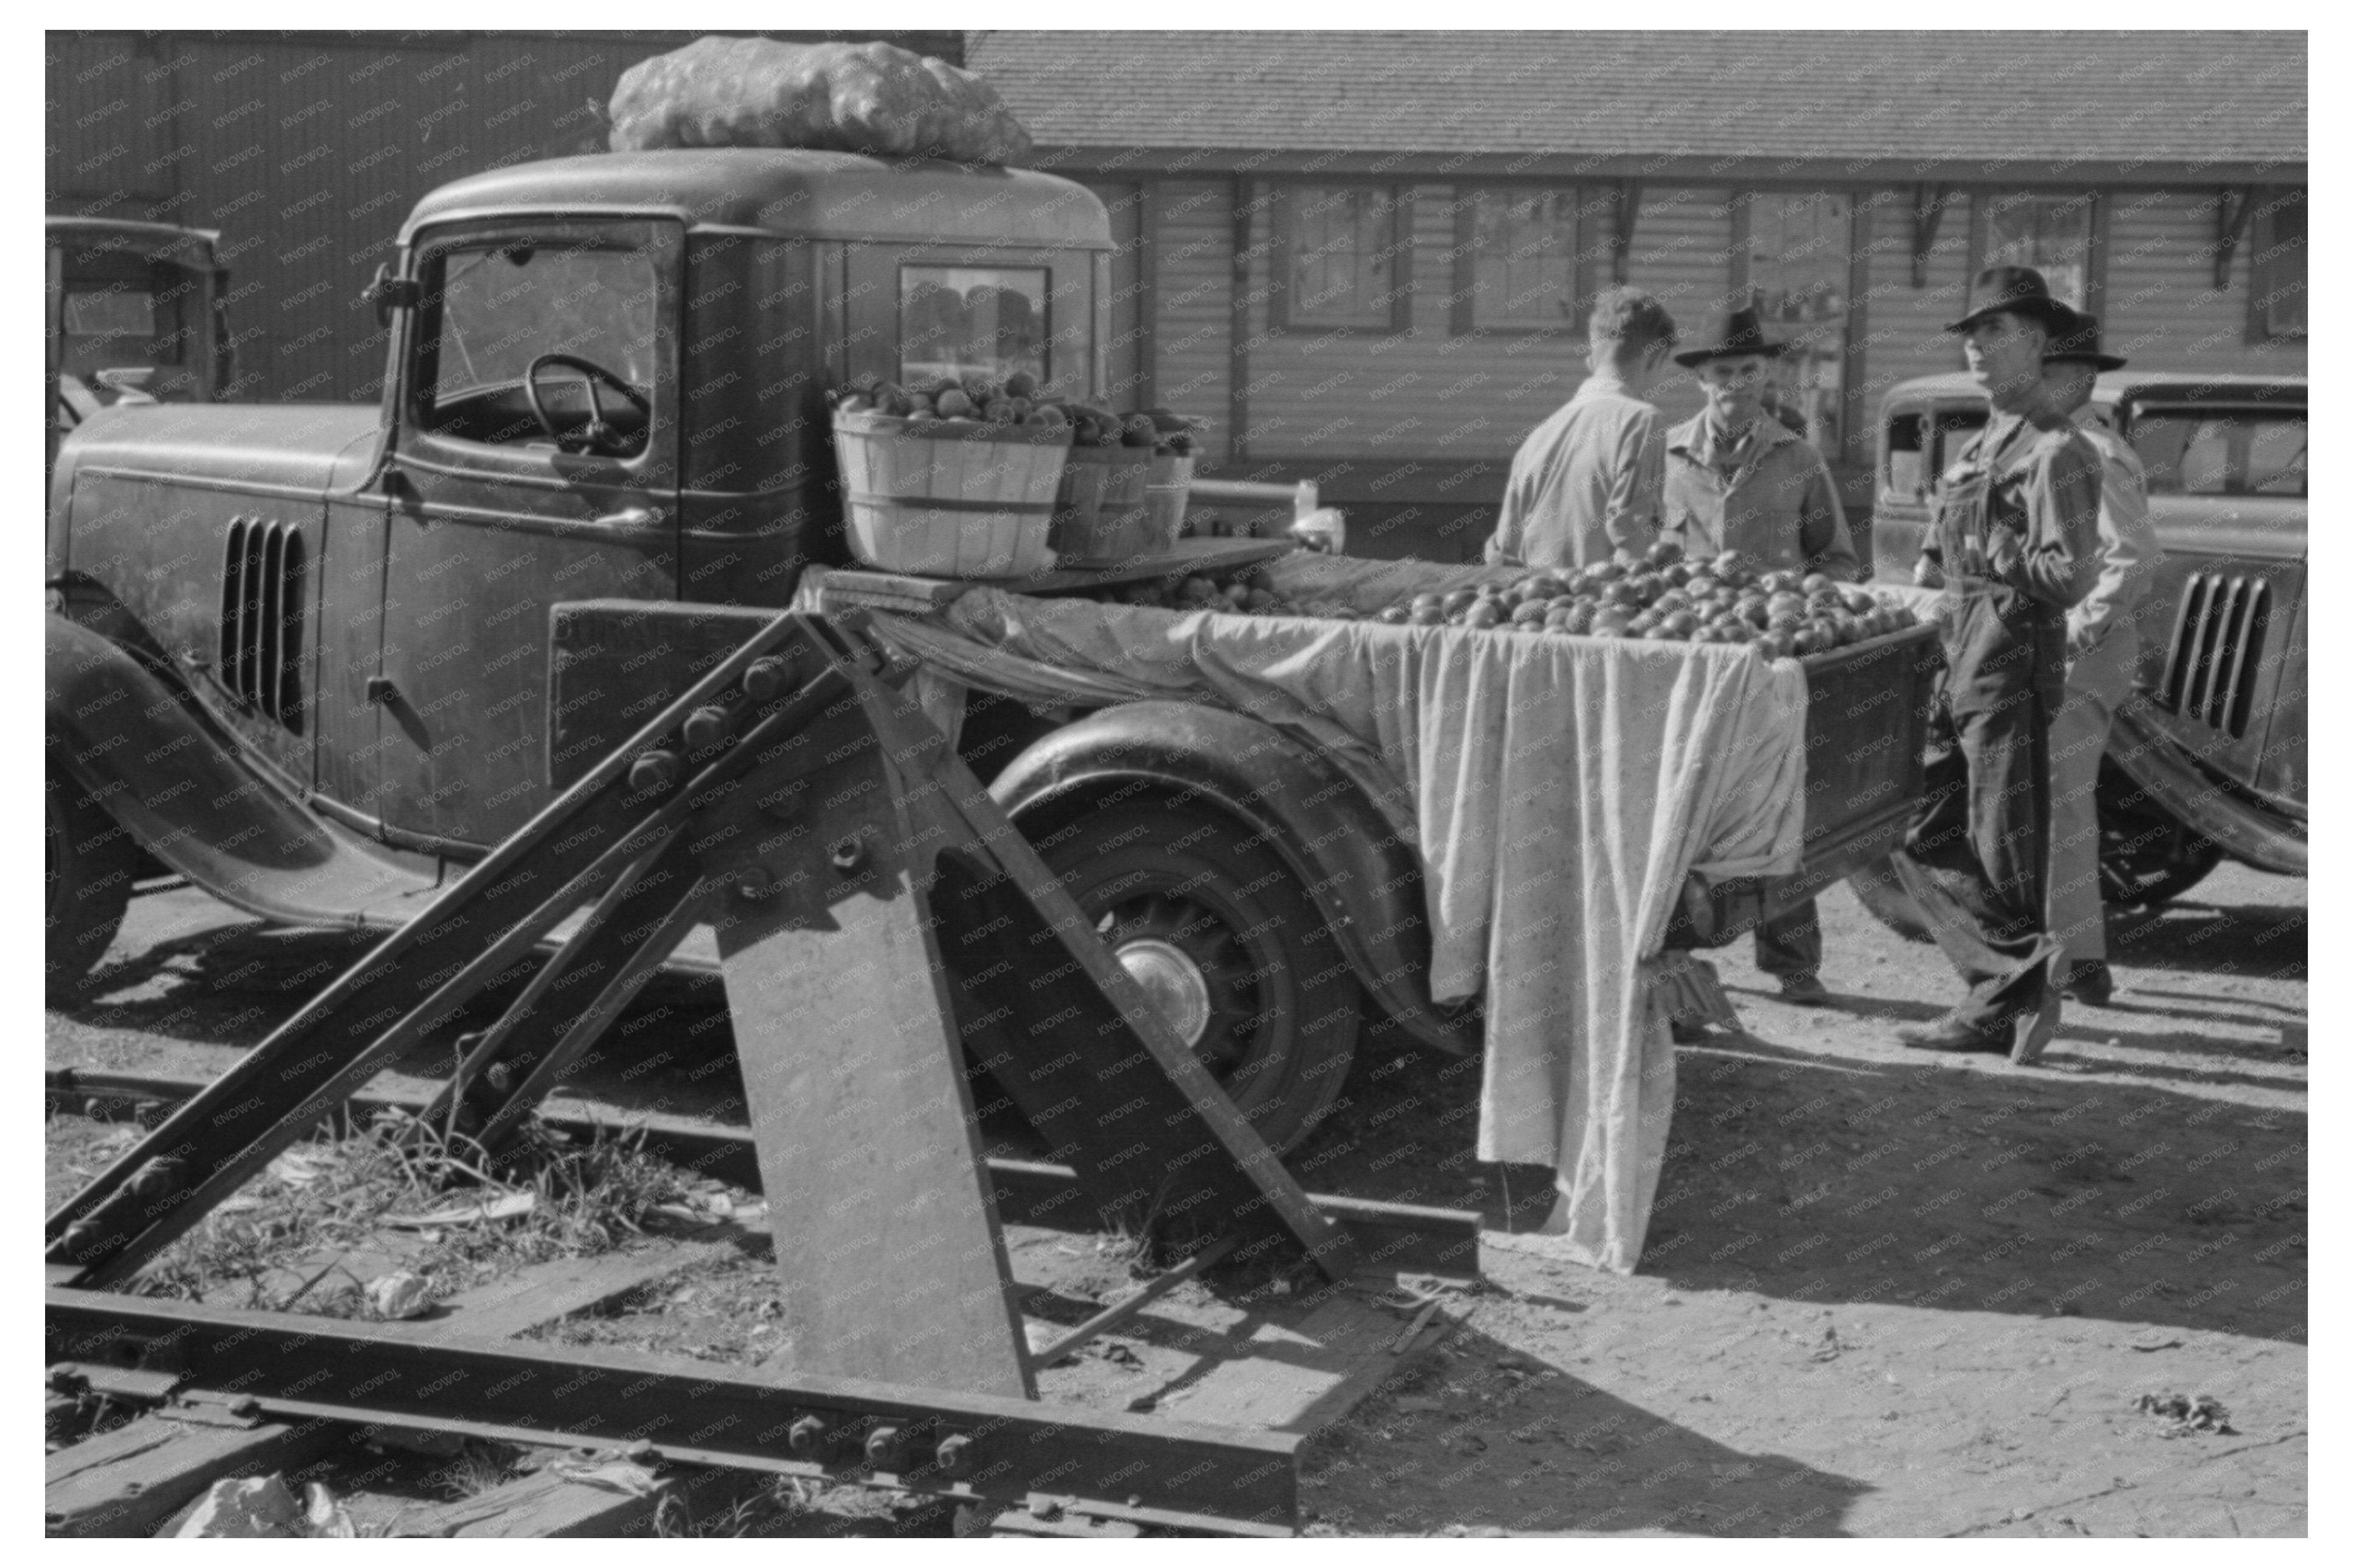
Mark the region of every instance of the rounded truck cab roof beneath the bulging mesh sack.
[[584, 214], [666, 214], [694, 230], [788, 240], [1111, 249], [1101, 200], [1054, 174], [800, 148], [591, 153], [508, 165], [426, 195], [400, 242], [414, 242], [433, 223]]

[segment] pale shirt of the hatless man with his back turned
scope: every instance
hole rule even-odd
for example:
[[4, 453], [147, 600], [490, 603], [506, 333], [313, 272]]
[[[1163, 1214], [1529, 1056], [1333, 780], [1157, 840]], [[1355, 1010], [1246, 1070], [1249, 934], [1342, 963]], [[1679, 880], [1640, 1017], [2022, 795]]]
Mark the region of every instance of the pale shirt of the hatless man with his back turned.
[[1489, 564], [1591, 567], [1659, 538], [1659, 409], [1609, 371], [1586, 376], [1511, 458]]

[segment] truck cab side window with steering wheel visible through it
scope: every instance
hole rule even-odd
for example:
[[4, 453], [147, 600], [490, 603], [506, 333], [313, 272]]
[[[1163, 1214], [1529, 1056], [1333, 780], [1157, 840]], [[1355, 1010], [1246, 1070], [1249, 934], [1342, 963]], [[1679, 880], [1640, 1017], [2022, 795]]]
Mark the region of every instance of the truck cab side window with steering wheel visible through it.
[[[416, 378], [424, 425], [466, 442], [548, 447], [602, 418], [605, 451], [645, 451], [656, 364], [654, 301], [654, 261], [633, 249], [499, 242], [440, 252], [426, 273]], [[586, 360], [605, 371], [539, 367], [534, 390], [555, 425], [553, 435], [532, 411], [525, 388], [541, 355]], [[593, 397], [591, 378], [598, 381]]]

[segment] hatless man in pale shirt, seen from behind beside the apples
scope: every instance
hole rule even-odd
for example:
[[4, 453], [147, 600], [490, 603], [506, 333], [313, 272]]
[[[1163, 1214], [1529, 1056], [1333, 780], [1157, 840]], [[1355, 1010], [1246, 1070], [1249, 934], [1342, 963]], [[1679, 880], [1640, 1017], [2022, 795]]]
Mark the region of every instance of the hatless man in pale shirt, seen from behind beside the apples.
[[1659, 409], [1642, 397], [1675, 346], [1675, 317], [1640, 289], [1609, 289], [1586, 322], [1577, 395], [1511, 458], [1487, 564], [1591, 567], [1659, 536]]

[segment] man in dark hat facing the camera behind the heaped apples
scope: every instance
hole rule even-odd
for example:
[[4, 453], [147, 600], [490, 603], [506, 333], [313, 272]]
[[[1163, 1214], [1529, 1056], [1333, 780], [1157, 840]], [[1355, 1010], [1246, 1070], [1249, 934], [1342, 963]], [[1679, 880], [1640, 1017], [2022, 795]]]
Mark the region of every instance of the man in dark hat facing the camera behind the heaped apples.
[[[1675, 355], [1699, 376], [1708, 407], [1666, 433], [1664, 534], [1694, 562], [1732, 550], [1748, 571], [1821, 571], [1852, 583], [1854, 543], [1831, 465], [1765, 414], [1774, 360], [1786, 348], [1767, 341], [1753, 308], [1741, 308], [1718, 315], [1694, 348]], [[1784, 1001], [1831, 1001], [1812, 898], [1758, 926], [1758, 969], [1781, 983]]]

